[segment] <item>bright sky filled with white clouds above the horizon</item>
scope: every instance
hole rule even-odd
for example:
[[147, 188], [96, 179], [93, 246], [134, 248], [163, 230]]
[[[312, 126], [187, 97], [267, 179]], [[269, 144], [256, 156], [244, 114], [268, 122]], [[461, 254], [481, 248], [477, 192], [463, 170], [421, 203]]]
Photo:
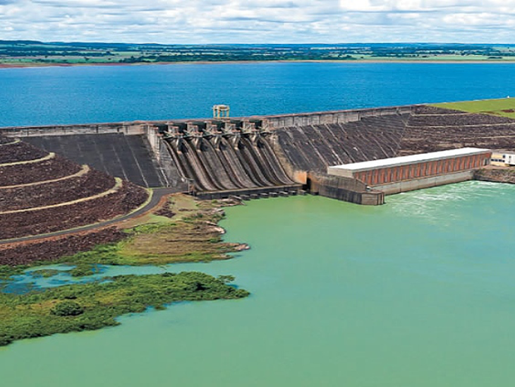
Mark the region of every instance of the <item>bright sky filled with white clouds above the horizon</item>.
[[515, 43], [515, 0], [0, 0], [0, 40]]

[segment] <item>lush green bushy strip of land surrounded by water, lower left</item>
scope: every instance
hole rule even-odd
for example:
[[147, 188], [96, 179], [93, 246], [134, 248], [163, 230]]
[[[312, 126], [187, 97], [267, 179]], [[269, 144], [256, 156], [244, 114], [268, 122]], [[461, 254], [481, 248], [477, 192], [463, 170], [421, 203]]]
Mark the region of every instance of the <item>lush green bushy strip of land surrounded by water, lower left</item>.
[[23, 338], [116, 326], [116, 317], [140, 313], [148, 307], [163, 309], [171, 302], [247, 297], [246, 290], [227, 285], [233, 279], [198, 272], [121, 275], [107, 282], [42, 292], [0, 292], [0, 345]]

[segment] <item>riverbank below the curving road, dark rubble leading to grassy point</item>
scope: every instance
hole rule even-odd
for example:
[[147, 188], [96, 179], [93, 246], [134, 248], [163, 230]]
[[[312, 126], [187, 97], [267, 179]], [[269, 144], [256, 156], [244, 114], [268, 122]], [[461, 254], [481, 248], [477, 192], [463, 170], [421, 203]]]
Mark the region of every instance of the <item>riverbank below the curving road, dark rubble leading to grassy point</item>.
[[[224, 206], [238, 204], [173, 194], [153, 213], [117, 227], [0, 245], [0, 268], [18, 271], [20, 267], [68, 263], [77, 266], [75, 275], [87, 275], [95, 265], [164, 265], [230, 258], [228, 253], [248, 246], [222, 242], [224, 230], [217, 223], [224, 218]], [[9, 270], [4, 267], [3, 271]]]

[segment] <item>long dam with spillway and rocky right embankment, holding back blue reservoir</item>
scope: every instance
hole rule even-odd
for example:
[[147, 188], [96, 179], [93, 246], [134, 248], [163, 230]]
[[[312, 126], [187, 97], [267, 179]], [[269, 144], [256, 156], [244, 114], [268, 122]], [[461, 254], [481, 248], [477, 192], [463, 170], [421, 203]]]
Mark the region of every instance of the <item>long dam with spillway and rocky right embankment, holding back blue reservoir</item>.
[[[411, 189], [424, 185], [404, 182], [402, 189], [400, 181], [380, 184], [366, 174], [328, 171], [338, 165], [461, 148], [485, 152], [515, 148], [514, 119], [431, 105], [8, 127], [0, 128], [0, 133], [140, 186], [166, 186], [199, 198], [260, 198], [308, 191], [367, 205], [382, 204], [384, 195], [410, 184]], [[431, 184], [472, 179], [471, 170], [483, 164], [468, 164], [460, 180], [450, 177], [456, 177], [456, 171], [437, 167], [431, 172], [437, 177]], [[407, 173], [408, 180], [417, 177], [409, 175], [416, 172]]]

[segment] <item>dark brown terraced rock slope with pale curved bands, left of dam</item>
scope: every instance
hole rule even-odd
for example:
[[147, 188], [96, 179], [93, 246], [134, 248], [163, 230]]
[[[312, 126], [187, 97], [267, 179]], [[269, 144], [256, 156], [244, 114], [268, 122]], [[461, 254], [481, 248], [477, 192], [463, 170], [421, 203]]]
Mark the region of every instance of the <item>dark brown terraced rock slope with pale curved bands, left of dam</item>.
[[0, 136], [0, 240], [116, 218], [147, 197], [129, 181]]

